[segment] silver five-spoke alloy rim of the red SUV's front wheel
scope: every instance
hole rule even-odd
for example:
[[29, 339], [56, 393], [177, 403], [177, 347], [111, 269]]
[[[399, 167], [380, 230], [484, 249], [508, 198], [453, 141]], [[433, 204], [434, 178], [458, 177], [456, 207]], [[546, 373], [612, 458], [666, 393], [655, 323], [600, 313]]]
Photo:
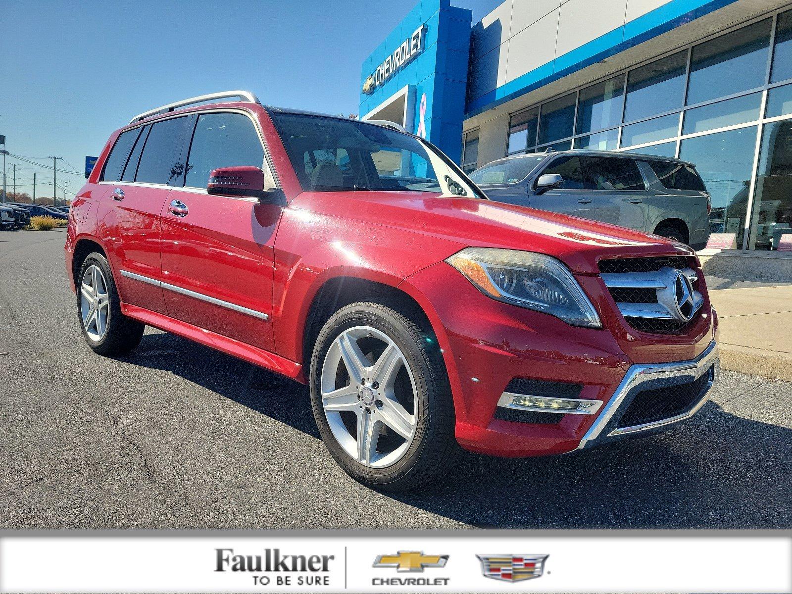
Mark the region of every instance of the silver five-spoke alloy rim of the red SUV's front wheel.
[[[359, 341], [371, 343], [368, 339], [374, 339], [379, 348], [364, 354]], [[375, 357], [373, 353], [382, 347], [379, 343], [384, 344], [384, 350]], [[345, 373], [340, 374], [340, 369]], [[329, 428], [352, 459], [371, 468], [391, 466], [402, 459], [415, 436], [417, 389], [404, 353], [390, 337], [370, 326], [344, 330], [327, 351], [321, 387]], [[342, 413], [347, 413], [347, 422]], [[356, 424], [350, 422], [352, 413]], [[349, 425], [354, 425], [356, 431], [350, 431]], [[392, 444], [394, 439], [389, 437], [380, 444], [385, 433], [395, 434], [403, 443], [389, 450], [384, 442]], [[380, 451], [378, 445], [383, 446]]]

